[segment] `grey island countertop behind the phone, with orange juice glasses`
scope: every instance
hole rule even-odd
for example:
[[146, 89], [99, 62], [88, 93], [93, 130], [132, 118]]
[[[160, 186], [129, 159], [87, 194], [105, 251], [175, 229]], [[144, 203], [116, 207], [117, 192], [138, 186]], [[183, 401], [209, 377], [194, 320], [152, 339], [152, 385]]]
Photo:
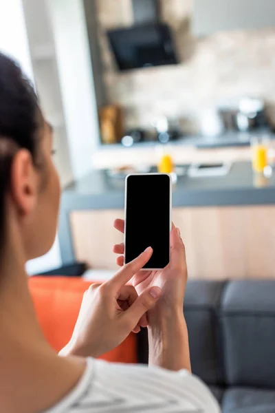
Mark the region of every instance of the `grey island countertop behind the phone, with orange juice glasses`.
[[[250, 162], [232, 165], [228, 176], [179, 176], [173, 187], [173, 207], [275, 204], [275, 176], [255, 176]], [[63, 206], [71, 209], [123, 209], [124, 179], [107, 171], [92, 171], [63, 191]]]

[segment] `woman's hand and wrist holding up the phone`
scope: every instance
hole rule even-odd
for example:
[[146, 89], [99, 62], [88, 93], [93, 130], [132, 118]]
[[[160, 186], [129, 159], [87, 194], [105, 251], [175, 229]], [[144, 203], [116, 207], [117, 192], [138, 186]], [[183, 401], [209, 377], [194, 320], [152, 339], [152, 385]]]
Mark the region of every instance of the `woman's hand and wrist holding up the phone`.
[[[116, 220], [114, 226], [118, 231], [124, 232], [123, 220]], [[123, 254], [124, 245], [115, 245], [113, 251]], [[118, 257], [118, 264], [122, 265], [123, 260], [122, 256]], [[183, 313], [186, 282], [184, 243], [179, 230], [173, 226], [170, 233], [168, 266], [162, 271], [140, 271], [132, 280], [138, 294], [143, 294], [147, 288], [152, 286], [159, 286], [162, 290], [157, 304], [147, 313], [149, 364], [168, 370], [191, 371], [188, 332]]]

